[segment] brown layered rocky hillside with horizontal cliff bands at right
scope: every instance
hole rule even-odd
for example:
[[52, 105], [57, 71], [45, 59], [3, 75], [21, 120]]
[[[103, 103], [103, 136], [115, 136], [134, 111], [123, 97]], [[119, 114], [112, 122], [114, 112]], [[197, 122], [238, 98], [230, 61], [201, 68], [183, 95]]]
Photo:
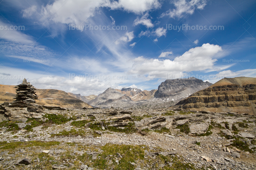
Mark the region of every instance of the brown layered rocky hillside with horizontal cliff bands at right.
[[180, 101], [175, 107], [256, 115], [255, 87], [256, 78], [224, 78]]

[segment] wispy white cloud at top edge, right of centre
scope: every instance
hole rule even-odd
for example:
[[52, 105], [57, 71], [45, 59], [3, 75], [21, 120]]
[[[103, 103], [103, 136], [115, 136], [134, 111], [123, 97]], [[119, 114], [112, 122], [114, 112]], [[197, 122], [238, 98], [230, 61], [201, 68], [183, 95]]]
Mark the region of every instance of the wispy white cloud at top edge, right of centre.
[[192, 15], [195, 9], [203, 10], [206, 5], [206, 0], [174, 0], [172, 2], [175, 9], [170, 9], [169, 11], [162, 14], [163, 16], [169, 16], [171, 18], [181, 18], [184, 15]]

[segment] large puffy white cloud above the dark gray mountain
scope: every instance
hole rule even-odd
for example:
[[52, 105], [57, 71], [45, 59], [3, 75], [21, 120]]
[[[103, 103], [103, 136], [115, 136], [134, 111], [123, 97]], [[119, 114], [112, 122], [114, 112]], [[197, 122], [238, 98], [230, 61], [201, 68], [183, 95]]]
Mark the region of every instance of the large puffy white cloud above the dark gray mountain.
[[174, 77], [181, 77], [185, 72], [204, 71], [213, 68], [221, 51], [220, 46], [207, 43], [200, 47], [191, 48], [174, 60], [152, 59], [152, 62], [134, 63], [130, 73], [140, 77], [144, 76], [146, 80], [164, 78], [169, 74]]

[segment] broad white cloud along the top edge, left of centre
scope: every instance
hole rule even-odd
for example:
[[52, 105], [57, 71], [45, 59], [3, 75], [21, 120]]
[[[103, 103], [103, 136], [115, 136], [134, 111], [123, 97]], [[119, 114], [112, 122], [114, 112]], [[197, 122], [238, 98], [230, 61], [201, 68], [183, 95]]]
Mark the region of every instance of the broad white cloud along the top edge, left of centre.
[[80, 25], [88, 18], [94, 16], [94, 12], [100, 7], [108, 7], [112, 10], [124, 10], [136, 14], [160, 7], [157, 0], [55, 0], [43, 5], [40, 14], [36, 12], [36, 6], [23, 10], [23, 17], [37, 17], [42, 23], [63, 23]]

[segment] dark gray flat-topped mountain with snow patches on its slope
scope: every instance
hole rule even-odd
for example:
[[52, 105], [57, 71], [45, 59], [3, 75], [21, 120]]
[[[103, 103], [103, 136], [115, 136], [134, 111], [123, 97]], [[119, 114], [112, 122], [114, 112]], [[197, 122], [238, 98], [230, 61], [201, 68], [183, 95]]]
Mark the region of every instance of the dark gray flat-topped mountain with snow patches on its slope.
[[155, 97], [170, 97], [170, 96], [184, 96], [185, 98], [199, 90], [211, 86], [212, 83], [204, 82], [195, 77], [185, 79], [165, 80], [158, 86]]

